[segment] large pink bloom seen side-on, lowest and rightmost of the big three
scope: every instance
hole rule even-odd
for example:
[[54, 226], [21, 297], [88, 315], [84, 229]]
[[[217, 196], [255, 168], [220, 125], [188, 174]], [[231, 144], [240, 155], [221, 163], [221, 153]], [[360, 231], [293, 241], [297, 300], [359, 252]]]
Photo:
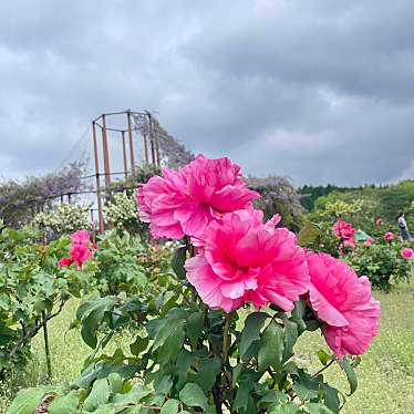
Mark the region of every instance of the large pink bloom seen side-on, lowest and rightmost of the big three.
[[325, 322], [323, 335], [339, 359], [363, 354], [379, 332], [380, 302], [366, 277], [325, 253], [309, 253], [309, 301]]

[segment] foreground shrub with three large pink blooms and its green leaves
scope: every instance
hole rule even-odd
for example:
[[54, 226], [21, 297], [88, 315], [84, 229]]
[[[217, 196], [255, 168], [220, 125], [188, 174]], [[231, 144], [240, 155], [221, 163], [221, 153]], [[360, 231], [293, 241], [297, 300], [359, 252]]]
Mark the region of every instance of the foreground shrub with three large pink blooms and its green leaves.
[[[172, 260], [175, 276], [159, 283], [161, 294], [144, 289], [82, 303], [76, 318], [93, 349], [85, 371], [69, 386], [22, 391], [9, 414], [39, 405], [84, 413], [339, 413], [345, 393], [324, 371], [338, 364], [349, 394], [355, 391], [356, 355], [379, 325], [368, 279], [329, 255], [306, 252], [277, 227], [280, 216], [263, 222], [251, 207], [256, 195], [227, 158], [197, 157], [165, 175], [144, 186], [141, 203], [153, 236], [184, 235]], [[126, 247], [108, 244], [106, 256], [120, 263]], [[124, 329], [134, 337], [130, 350], [105, 353]], [[294, 345], [315, 330], [333, 353], [315, 350], [321, 368], [309, 372]]]

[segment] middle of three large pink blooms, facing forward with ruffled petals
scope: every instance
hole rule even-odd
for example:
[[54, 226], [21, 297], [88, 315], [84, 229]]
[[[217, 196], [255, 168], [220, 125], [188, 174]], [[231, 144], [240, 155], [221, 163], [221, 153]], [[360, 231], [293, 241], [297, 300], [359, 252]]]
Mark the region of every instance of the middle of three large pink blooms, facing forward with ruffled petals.
[[211, 309], [230, 312], [251, 301], [283, 310], [309, 289], [304, 251], [280, 216], [262, 222], [262, 211], [229, 213], [211, 221], [197, 256], [186, 261], [187, 279]]

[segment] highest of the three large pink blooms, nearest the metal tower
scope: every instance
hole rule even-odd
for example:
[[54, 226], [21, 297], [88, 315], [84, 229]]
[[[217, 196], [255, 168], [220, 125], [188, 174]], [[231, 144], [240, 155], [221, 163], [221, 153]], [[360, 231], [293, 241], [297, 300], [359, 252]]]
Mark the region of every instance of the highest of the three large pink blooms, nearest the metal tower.
[[138, 189], [139, 217], [153, 237], [200, 237], [222, 214], [248, 207], [259, 194], [247, 188], [240, 167], [228, 158], [198, 155], [178, 172], [165, 168]]

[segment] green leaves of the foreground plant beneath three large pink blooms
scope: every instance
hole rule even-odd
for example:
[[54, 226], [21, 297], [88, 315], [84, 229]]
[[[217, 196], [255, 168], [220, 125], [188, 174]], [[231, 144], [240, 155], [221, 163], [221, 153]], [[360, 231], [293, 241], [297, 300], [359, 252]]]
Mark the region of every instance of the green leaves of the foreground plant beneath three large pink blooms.
[[[101, 250], [113, 249], [114, 237], [108, 235], [111, 241]], [[108, 260], [124, 249], [116, 247]], [[338, 413], [345, 392], [323, 375], [337, 361], [320, 352], [322, 368], [311, 374], [294, 358], [299, 338], [320, 328], [307, 303], [298, 301], [291, 313], [275, 306], [230, 314], [209, 310], [179, 277], [185, 253], [178, 247], [173, 261], [178, 276], [168, 278], [161, 292], [121, 291], [80, 306], [74, 325], [93, 352], [80, 377], [66, 387], [33, 394], [35, 404], [60, 406], [68, 399], [80, 413], [222, 413], [225, 406], [240, 414]], [[96, 260], [104, 266], [99, 252]], [[115, 335], [125, 332], [130, 346], [108, 352]], [[352, 360], [341, 368], [353, 392]]]

